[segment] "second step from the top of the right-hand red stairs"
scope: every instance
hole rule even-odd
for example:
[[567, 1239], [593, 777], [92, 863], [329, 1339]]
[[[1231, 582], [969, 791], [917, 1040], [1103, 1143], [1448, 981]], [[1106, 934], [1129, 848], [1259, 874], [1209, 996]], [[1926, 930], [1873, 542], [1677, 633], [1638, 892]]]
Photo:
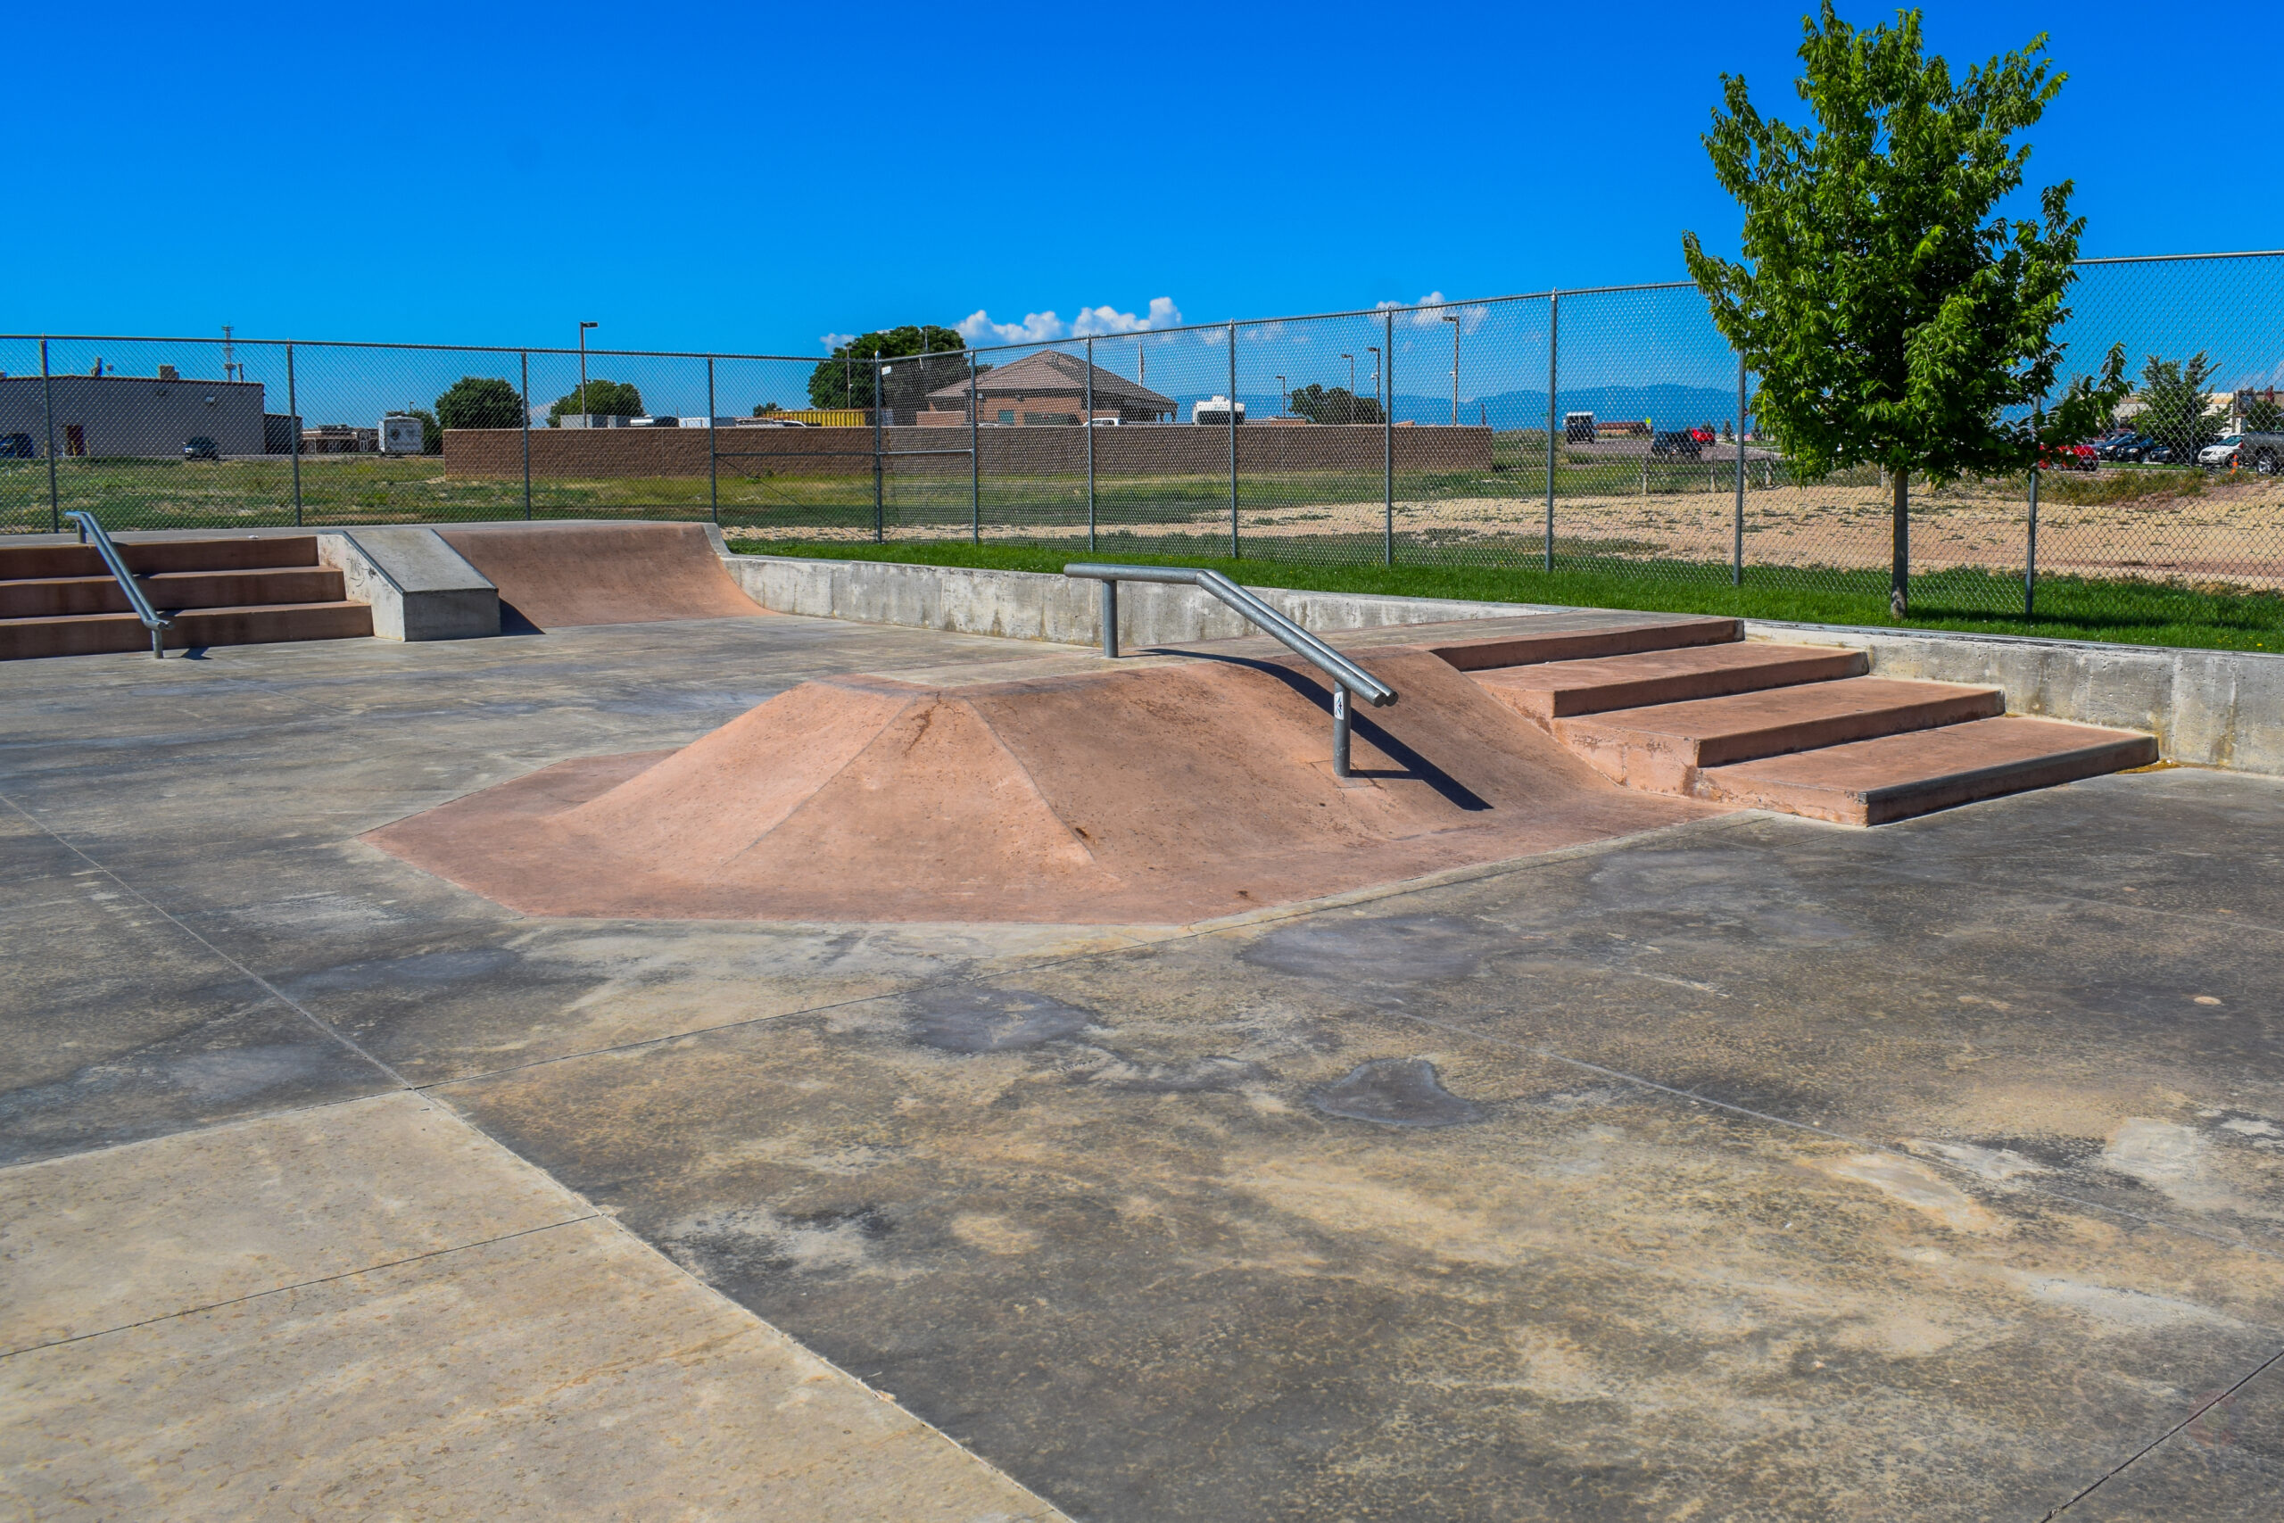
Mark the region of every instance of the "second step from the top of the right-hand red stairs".
[[1471, 676], [1507, 708], [1544, 724], [1569, 715], [1601, 715], [1613, 708], [1827, 683], [1866, 671], [1871, 671], [1871, 660], [1861, 651], [1720, 644], [1501, 667]]

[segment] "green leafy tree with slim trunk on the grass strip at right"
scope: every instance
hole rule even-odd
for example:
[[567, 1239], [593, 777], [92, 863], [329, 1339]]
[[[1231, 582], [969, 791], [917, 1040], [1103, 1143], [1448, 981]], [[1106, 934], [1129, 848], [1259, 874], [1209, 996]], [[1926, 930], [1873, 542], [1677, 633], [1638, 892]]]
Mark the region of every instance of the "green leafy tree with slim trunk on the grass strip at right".
[[1759, 420], [1795, 473], [1880, 466], [1893, 482], [1889, 603], [1909, 612], [1909, 482], [2026, 470], [2042, 443], [2094, 434], [2124, 395], [2124, 349], [2056, 395], [2062, 295], [2085, 219], [2072, 183], [2037, 219], [1996, 215], [2024, 183], [2067, 75], [2044, 34], [1953, 80], [1921, 14], [1857, 32], [1825, 0], [1802, 23], [1795, 82], [1813, 126], [1761, 116], [1743, 78], [1704, 137], [1745, 210], [1743, 263], [1683, 233], [1713, 322], [1761, 372]]

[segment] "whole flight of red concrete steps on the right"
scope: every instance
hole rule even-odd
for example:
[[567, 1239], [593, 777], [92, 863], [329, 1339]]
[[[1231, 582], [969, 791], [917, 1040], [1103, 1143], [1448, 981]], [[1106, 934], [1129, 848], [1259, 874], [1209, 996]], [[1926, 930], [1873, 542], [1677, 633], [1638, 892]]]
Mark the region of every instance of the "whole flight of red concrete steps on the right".
[[1861, 651], [1747, 644], [1734, 619], [1464, 642], [1437, 655], [1628, 788], [1841, 824], [2156, 760], [2149, 735], [2008, 717], [1996, 687], [1866, 676]]

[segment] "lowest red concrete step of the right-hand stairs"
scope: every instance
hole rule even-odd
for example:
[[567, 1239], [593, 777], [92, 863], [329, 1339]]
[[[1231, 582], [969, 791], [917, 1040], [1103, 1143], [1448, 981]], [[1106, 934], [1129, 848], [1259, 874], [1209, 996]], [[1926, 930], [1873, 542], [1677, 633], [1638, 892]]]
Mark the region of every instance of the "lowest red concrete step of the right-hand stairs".
[[1889, 824], [2154, 760], [2149, 735], [2008, 715], [1706, 767], [1695, 792], [1839, 824]]

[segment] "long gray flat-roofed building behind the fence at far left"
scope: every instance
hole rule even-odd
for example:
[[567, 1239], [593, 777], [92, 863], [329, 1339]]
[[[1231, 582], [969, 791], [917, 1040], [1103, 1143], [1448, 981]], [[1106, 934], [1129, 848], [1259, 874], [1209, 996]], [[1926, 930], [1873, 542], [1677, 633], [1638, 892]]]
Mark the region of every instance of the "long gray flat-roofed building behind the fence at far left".
[[[263, 420], [260, 381], [185, 381], [167, 365], [158, 377], [11, 374], [0, 377], [0, 443], [9, 454], [48, 454], [48, 400], [55, 404], [55, 452], [183, 454], [190, 438], [212, 438], [222, 454], [292, 450], [290, 425]], [[30, 441], [25, 445], [25, 441]]]

